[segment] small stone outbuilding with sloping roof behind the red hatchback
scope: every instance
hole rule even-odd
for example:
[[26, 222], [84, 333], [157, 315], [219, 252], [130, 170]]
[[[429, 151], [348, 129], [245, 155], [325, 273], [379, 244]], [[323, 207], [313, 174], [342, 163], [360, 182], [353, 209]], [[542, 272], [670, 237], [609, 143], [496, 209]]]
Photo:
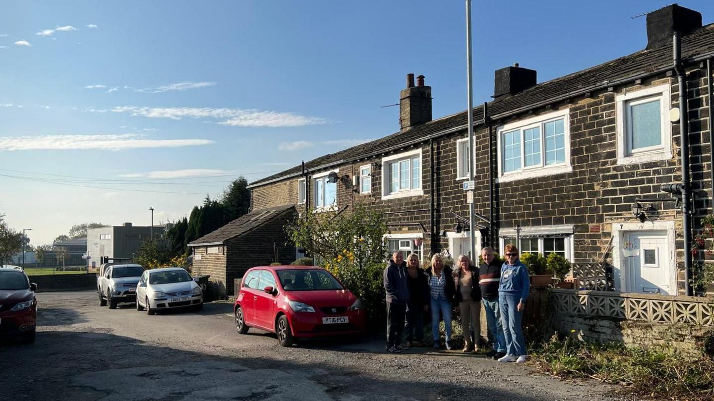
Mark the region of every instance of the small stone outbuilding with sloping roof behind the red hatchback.
[[289, 264], [296, 248], [285, 225], [297, 216], [293, 205], [253, 210], [218, 230], [189, 243], [194, 275], [211, 275], [211, 293], [218, 298], [233, 294], [233, 280], [253, 266]]

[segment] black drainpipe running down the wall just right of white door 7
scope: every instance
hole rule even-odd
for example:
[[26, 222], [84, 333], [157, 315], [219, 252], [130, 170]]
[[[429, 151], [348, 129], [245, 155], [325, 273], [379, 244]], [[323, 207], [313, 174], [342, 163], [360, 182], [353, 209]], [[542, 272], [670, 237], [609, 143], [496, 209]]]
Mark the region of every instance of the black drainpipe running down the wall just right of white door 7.
[[684, 280], [686, 295], [693, 295], [689, 281], [692, 275], [692, 227], [689, 189], [689, 116], [687, 105], [686, 73], [682, 66], [682, 50], [679, 32], [674, 33], [674, 69], [679, 81], [679, 133], [682, 153], [682, 228], [684, 230]]

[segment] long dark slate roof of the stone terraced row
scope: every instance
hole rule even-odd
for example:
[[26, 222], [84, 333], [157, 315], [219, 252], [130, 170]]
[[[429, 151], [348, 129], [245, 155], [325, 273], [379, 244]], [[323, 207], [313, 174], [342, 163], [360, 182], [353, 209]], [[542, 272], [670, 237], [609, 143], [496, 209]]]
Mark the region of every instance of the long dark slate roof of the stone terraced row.
[[[714, 24], [703, 26], [691, 34], [682, 37], [682, 57], [685, 61], [700, 61], [714, 54]], [[666, 44], [655, 49], [645, 49], [629, 56], [587, 68], [583, 71], [555, 78], [552, 81], [539, 83], [532, 88], [514, 95], [501, 96], [488, 102], [488, 116], [491, 119], [503, 118], [516, 113], [522, 113], [549, 103], [564, 101], [573, 96], [582, 95], [608, 86], [644, 78], [655, 73], [673, 69], [672, 44]], [[468, 124], [466, 111], [439, 118], [424, 123], [406, 132], [393, 133], [390, 136], [368, 143], [320, 156], [305, 163], [308, 170], [327, 168], [340, 163], [356, 161], [379, 153], [396, 150], [415, 143], [428, 141], [429, 138], [443, 136], [453, 131], [460, 131]], [[483, 124], [483, 106], [473, 108], [474, 126]], [[281, 181], [297, 176], [302, 172], [301, 166], [289, 168], [281, 173], [253, 181], [248, 188], [254, 188], [267, 183]]]

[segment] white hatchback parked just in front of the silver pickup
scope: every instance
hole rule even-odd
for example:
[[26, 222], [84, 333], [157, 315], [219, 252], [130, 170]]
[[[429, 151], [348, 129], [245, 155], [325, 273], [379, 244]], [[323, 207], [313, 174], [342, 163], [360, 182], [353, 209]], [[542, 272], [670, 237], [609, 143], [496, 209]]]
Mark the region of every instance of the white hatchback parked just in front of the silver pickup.
[[136, 286], [136, 310], [154, 315], [159, 310], [203, 308], [201, 287], [182, 268], [146, 270]]

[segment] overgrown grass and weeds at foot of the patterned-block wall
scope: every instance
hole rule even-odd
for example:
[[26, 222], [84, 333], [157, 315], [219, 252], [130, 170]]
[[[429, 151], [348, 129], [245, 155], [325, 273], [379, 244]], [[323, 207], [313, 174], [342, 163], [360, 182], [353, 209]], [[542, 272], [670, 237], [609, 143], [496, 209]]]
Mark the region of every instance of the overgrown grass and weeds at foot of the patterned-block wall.
[[714, 360], [672, 347], [644, 349], [553, 339], [531, 347], [531, 362], [549, 375], [620, 384], [640, 397], [714, 399]]

